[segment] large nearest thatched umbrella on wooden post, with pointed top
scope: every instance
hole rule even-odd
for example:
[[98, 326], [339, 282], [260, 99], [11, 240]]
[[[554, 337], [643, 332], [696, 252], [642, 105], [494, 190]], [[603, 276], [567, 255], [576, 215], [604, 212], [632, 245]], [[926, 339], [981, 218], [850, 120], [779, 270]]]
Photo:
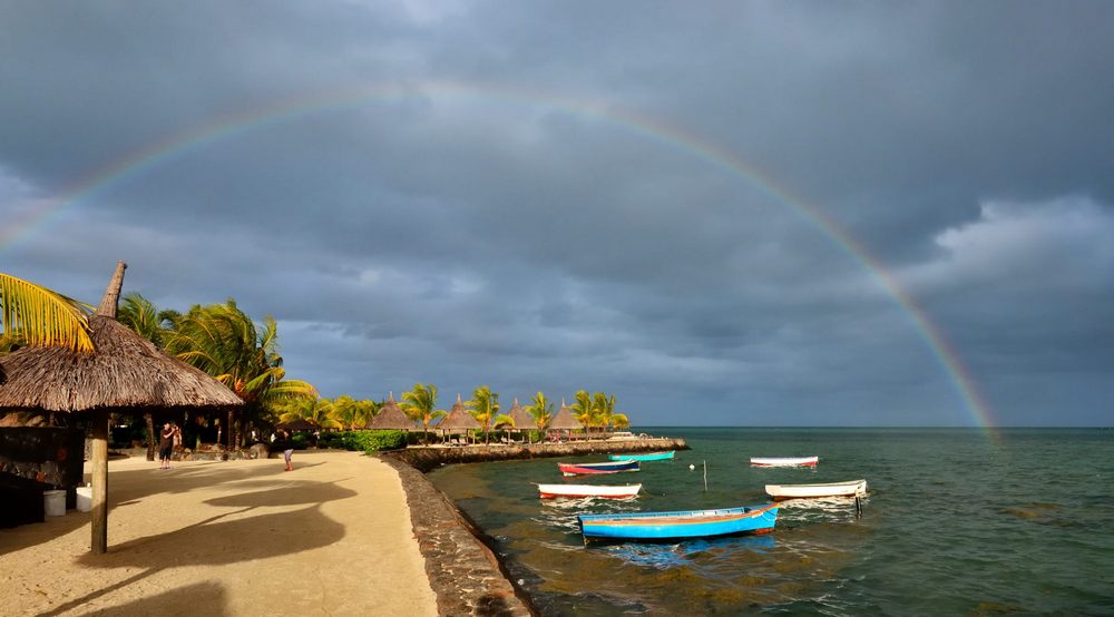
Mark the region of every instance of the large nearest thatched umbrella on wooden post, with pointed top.
[[108, 413], [212, 411], [243, 405], [204, 372], [170, 358], [116, 322], [124, 285], [116, 264], [97, 313], [95, 351], [22, 347], [0, 358], [0, 411], [87, 413], [92, 424], [92, 552], [108, 550]]

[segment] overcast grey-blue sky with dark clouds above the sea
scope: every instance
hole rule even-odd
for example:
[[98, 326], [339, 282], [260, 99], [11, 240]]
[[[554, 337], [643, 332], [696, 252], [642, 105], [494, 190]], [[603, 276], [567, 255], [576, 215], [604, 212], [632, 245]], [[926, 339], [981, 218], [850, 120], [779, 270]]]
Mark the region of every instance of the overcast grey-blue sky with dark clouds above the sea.
[[1111, 425], [1112, 32], [1105, 1], [0, 0], [0, 271], [235, 297], [325, 396]]

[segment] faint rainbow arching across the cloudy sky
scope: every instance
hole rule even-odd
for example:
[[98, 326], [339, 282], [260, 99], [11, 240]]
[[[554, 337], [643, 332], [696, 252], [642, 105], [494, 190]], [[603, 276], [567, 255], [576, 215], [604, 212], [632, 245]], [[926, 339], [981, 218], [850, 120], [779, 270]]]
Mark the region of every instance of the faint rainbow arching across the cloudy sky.
[[138, 148], [79, 178], [52, 198], [30, 200], [18, 215], [18, 219], [10, 222], [3, 231], [0, 231], [0, 253], [17, 246], [28, 237], [32, 237], [38, 229], [48, 225], [67, 209], [74, 208], [98, 194], [108, 192], [128, 178], [139, 176], [170, 159], [202, 149], [211, 144], [312, 115], [390, 100], [426, 97], [431, 94], [516, 102], [602, 119], [645, 139], [702, 159], [731, 176], [743, 179], [759, 192], [791, 208], [870, 273], [880, 288], [902, 308], [910, 324], [954, 384], [974, 422], [990, 432], [991, 437], [994, 435], [995, 423], [989, 405], [956, 350], [948, 343], [947, 337], [882, 264], [872, 257], [837, 221], [814, 206], [810, 206], [755, 166], [713, 143], [668, 126], [655, 118], [587, 99], [538, 94], [537, 91], [496, 84], [421, 81], [410, 85], [385, 85], [315, 92], [228, 114]]

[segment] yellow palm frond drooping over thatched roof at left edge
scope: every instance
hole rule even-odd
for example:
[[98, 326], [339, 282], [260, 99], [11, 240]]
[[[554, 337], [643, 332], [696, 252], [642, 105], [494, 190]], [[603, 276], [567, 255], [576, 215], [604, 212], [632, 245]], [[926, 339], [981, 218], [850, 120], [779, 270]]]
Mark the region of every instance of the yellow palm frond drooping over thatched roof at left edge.
[[89, 306], [35, 283], [0, 273], [0, 335], [21, 345], [91, 353]]

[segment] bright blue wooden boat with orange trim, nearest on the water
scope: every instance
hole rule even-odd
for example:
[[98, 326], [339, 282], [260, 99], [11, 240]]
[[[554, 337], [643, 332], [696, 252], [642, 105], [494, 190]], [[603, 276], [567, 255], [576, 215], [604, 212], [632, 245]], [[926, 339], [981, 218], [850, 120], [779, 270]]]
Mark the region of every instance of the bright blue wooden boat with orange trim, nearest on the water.
[[768, 533], [778, 522], [778, 505], [677, 512], [579, 515], [576, 519], [585, 542], [590, 539], [684, 540], [733, 533]]

